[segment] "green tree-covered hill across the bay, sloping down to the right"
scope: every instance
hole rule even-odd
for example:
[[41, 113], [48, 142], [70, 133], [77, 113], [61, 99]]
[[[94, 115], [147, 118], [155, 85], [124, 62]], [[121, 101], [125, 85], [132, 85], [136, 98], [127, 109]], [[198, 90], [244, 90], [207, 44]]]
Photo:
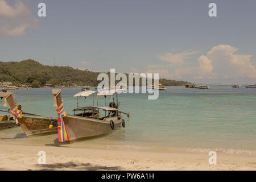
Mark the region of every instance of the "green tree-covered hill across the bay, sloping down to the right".
[[[38, 63], [35, 60], [24, 61], [0, 61], [0, 81], [10, 81], [14, 84], [27, 83], [32, 87], [44, 84], [65, 86], [96, 86], [99, 72], [89, 70], [82, 71], [72, 67], [49, 66]], [[108, 73], [109, 74], [109, 73]], [[159, 83], [166, 86], [185, 85], [188, 82], [159, 79]]]

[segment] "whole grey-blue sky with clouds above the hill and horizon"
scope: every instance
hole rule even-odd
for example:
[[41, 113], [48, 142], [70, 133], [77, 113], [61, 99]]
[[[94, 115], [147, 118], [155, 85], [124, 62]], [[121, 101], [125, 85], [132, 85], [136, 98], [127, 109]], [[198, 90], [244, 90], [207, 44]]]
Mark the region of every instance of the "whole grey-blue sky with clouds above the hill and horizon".
[[[55, 57], [56, 65], [101, 72], [256, 82], [256, 1], [1, 1], [14, 12], [0, 13], [0, 61], [53, 65]], [[40, 2], [46, 17], [38, 17]], [[208, 16], [210, 2], [217, 17]], [[9, 22], [25, 28], [9, 35], [1, 31]]]

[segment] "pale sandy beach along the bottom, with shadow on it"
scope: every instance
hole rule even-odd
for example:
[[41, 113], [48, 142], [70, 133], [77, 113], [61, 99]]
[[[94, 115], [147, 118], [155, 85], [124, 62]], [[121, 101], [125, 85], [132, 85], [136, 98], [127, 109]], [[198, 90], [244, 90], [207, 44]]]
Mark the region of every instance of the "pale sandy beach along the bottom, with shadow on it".
[[[131, 152], [2, 143], [0, 150], [1, 170], [256, 170], [256, 157], [250, 154], [217, 152], [217, 164], [210, 165], [208, 152]], [[38, 164], [39, 151], [46, 152], [46, 165]]]

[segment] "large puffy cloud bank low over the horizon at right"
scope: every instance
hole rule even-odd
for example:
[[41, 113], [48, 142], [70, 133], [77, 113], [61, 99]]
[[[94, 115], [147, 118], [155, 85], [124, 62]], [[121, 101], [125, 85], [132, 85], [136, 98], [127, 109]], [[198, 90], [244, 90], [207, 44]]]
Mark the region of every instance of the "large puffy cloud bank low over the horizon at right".
[[224, 78], [234, 80], [237, 80], [238, 78], [256, 78], [256, 68], [255, 65], [251, 63], [252, 55], [236, 54], [237, 51], [238, 48], [230, 45], [214, 46], [206, 55], [201, 55], [197, 59], [197, 65], [192, 66], [191, 64], [186, 63], [184, 58], [193, 53], [187, 54], [187, 56], [184, 57], [180, 55], [176, 56], [182, 57], [182, 59], [177, 59], [179, 61], [176, 62], [173, 61], [175, 56], [168, 54], [165, 57], [165, 60], [168, 60], [168, 63], [180, 63], [180, 65], [172, 65], [172, 72], [168, 70], [168, 65], [165, 65], [166, 68], [164, 69], [159, 69], [164, 66], [163, 64], [160, 64], [158, 67], [156, 67], [157, 64], [147, 65], [149, 68], [147, 72], [158, 72], [161, 77], [191, 81], [193, 79], [221, 81]]

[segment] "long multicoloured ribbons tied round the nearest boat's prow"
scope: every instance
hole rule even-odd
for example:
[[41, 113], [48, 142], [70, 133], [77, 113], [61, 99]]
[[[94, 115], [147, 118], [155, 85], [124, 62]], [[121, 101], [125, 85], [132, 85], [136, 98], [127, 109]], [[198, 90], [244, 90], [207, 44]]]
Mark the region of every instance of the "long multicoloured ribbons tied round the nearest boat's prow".
[[55, 99], [55, 104], [54, 106], [57, 107], [56, 109], [56, 113], [58, 114], [58, 134], [59, 134], [59, 142], [65, 142], [69, 140], [68, 137], [68, 132], [67, 129], [65, 127], [65, 123], [63, 121], [63, 119], [67, 118], [67, 113], [65, 112], [64, 108], [63, 108], [63, 102], [61, 103], [61, 105], [58, 107], [56, 104], [56, 99]]

